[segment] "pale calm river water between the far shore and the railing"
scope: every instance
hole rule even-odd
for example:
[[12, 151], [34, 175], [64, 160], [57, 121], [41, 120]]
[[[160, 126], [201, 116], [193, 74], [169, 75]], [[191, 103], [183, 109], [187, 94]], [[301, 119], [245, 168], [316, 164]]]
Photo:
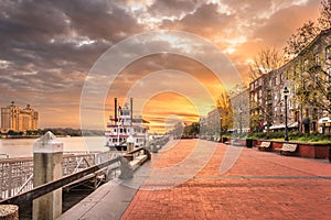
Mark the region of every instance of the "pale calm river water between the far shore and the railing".
[[[57, 138], [63, 142], [64, 152], [107, 151], [104, 136]], [[33, 144], [36, 139], [0, 139], [0, 154], [9, 157], [33, 156]], [[3, 155], [0, 156], [0, 158]]]

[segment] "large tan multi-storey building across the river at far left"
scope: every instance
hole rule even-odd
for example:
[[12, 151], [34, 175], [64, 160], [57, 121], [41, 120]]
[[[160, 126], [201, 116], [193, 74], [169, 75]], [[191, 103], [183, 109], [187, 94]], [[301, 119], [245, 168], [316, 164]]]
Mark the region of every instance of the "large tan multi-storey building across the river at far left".
[[4, 132], [38, 130], [38, 111], [32, 109], [30, 105], [20, 109], [12, 101], [10, 106], [1, 108], [1, 130]]

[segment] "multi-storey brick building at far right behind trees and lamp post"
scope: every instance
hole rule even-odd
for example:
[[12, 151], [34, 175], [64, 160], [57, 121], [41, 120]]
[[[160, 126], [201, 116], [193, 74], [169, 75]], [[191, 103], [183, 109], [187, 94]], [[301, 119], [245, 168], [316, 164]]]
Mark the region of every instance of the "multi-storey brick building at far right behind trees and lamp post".
[[330, 117], [331, 112], [330, 29], [322, 31], [293, 59], [249, 84], [250, 128], [285, 128], [285, 87], [289, 89], [288, 128], [318, 131], [319, 119]]

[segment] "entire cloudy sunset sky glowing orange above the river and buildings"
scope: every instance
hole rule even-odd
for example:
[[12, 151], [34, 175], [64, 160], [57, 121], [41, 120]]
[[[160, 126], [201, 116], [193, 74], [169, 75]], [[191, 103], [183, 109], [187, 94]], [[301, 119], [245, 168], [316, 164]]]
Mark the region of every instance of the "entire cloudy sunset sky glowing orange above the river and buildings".
[[[0, 106], [28, 103], [40, 128], [100, 129], [119, 103], [162, 131], [196, 121], [280, 52], [317, 0], [2, 0]], [[218, 53], [220, 52], [220, 53]], [[217, 72], [217, 73], [216, 73]]]

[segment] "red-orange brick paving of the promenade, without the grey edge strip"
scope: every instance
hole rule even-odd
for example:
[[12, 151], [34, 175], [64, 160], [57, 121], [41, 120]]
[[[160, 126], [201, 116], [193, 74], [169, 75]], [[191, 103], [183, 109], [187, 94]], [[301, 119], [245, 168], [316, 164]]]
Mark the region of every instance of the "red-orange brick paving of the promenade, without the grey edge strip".
[[[151, 166], [164, 169], [180, 164], [196, 142], [182, 140], [153, 154]], [[190, 166], [179, 167], [178, 176], [151, 174], [121, 219], [331, 219], [331, 164], [327, 161], [242, 147], [234, 166], [221, 175], [226, 148], [237, 146], [213, 148], [212, 142], [203, 143], [214, 154], [194, 178], [185, 180]], [[201, 158], [190, 161], [192, 167], [194, 160]], [[181, 177], [182, 184], [171, 185]]]

